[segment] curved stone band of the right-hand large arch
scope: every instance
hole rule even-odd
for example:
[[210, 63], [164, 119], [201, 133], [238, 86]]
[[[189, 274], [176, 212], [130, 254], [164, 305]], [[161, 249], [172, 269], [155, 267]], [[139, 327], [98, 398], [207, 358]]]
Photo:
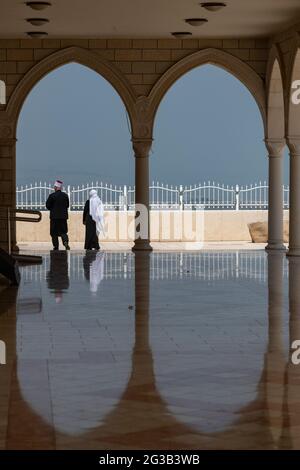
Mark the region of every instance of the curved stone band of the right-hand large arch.
[[171, 86], [190, 70], [204, 64], [219, 66], [234, 75], [250, 91], [260, 109], [264, 127], [266, 127], [265, 89], [262, 79], [245, 62], [218, 49], [208, 48], [190, 54], [169, 68], [154, 85], [149, 95], [153, 116], [159, 104]]

